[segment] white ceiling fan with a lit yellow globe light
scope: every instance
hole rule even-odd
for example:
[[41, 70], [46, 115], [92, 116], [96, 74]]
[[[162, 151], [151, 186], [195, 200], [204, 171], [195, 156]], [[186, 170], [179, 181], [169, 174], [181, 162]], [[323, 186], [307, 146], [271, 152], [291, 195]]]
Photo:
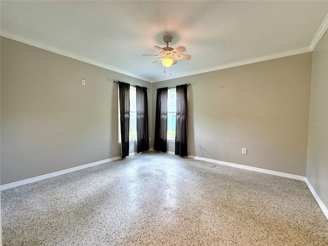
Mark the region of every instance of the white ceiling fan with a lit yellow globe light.
[[160, 51], [159, 55], [153, 55], [158, 58], [157, 60], [153, 61], [153, 63], [157, 63], [157, 61], [162, 61], [162, 64], [165, 67], [170, 67], [177, 63], [176, 60], [189, 60], [191, 58], [190, 55], [181, 55], [181, 53], [186, 52], [186, 48], [183, 46], [179, 46], [176, 49], [169, 47], [169, 44], [172, 42], [172, 36], [165, 36], [163, 37], [164, 43], [166, 43], [166, 47], [160, 48], [158, 46], [154, 46], [157, 50]]

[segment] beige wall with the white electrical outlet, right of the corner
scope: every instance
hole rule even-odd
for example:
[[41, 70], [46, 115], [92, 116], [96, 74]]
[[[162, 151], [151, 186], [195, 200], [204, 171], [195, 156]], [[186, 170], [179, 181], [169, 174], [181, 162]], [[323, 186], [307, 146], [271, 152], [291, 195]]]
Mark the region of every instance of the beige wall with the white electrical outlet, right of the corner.
[[311, 55], [155, 83], [152, 133], [156, 89], [191, 84], [188, 154], [305, 176]]

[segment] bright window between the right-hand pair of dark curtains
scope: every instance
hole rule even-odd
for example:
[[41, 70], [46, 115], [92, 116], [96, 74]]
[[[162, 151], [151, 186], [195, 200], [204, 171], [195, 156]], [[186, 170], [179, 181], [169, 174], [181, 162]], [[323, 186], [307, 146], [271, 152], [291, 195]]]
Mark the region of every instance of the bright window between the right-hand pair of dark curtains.
[[168, 89], [168, 140], [175, 141], [176, 88]]

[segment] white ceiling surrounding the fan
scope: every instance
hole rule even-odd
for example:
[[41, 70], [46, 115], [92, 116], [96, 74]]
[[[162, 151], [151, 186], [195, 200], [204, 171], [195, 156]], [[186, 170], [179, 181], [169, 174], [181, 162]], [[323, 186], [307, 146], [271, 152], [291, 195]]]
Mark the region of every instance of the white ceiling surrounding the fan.
[[[313, 50], [328, 1], [1, 1], [1, 35], [147, 81]], [[190, 60], [163, 73], [154, 46]]]

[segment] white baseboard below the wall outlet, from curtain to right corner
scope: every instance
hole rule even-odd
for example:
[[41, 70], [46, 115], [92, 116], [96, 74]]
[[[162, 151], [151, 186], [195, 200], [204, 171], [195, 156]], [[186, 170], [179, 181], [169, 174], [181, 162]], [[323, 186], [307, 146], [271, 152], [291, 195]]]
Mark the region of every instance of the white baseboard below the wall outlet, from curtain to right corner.
[[272, 171], [272, 170], [268, 170], [268, 169], [254, 168], [254, 167], [250, 167], [250, 166], [244, 166], [244, 165], [235, 164], [235, 163], [231, 163], [231, 162], [208, 159], [208, 158], [198, 157], [198, 156], [193, 156], [193, 155], [188, 155], [188, 158], [195, 159], [195, 160], [203, 160], [203, 161], [216, 163], [216, 164], [223, 165], [223, 166], [229, 166], [229, 167], [233, 167], [233, 168], [240, 168], [240, 169], [250, 170], [250, 171], [254, 171], [254, 172], [267, 173], [267, 174], [271, 174], [271, 175], [275, 175], [275, 176], [279, 176], [279, 177], [305, 181], [305, 177], [295, 175], [295, 174], [290, 174], [290, 173], [282, 173], [282, 172]]

